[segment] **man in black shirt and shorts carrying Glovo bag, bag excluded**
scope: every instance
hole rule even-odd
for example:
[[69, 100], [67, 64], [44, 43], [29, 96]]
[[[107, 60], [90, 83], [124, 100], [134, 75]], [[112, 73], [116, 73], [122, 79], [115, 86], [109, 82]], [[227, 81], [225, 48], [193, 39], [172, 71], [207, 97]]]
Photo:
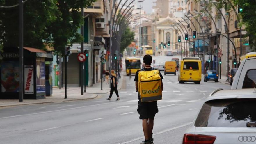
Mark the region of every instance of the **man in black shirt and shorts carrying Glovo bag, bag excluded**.
[[[149, 54], [146, 54], [143, 57], [143, 61], [145, 63], [145, 67], [143, 68], [144, 71], [150, 71], [154, 70], [154, 68], [151, 67], [152, 63], [152, 56]], [[138, 92], [138, 70], [136, 72], [134, 81], [135, 81], [135, 86], [136, 86], [136, 91]], [[163, 79], [162, 74], [159, 72], [161, 79]], [[161, 87], [163, 91], [163, 82], [161, 82]], [[145, 141], [141, 142], [140, 144], [153, 144], [153, 139], [152, 139], [152, 130], [154, 126], [154, 118], [156, 113], [158, 112], [157, 109], [157, 101], [154, 102], [141, 102], [140, 96], [138, 96], [138, 113], [140, 114], [140, 119], [142, 120], [142, 127], [143, 127], [143, 132], [145, 136]]]

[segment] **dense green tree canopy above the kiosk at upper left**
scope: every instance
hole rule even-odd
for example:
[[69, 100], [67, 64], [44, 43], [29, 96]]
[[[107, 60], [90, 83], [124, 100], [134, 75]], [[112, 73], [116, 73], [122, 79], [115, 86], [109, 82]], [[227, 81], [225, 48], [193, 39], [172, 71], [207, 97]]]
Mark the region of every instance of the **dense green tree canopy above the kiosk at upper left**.
[[[96, 0], [28, 0], [24, 3], [24, 46], [44, 49], [53, 46], [63, 54], [66, 45], [81, 42], [77, 29], [83, 24], [81, 7]], [[13, 6], [17, 0], [0, 0]], [[19, 45], [19, 6], [0, 9], [0, 45]]]

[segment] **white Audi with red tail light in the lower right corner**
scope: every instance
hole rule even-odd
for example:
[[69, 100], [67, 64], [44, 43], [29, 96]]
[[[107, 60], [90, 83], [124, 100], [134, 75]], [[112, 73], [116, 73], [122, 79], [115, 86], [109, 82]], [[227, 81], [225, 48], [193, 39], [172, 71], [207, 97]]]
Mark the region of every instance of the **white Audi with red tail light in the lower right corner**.
[[186, 130], [182, 144], [255, 144], [256, 90], [215, 90]]

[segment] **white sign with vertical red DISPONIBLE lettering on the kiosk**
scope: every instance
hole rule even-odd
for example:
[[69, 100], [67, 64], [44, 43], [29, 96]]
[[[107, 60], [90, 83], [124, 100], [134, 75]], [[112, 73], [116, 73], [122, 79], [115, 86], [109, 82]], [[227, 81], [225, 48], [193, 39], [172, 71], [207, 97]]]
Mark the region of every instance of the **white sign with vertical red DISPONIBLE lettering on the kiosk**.
[[24, 93], [34, 94], [34, 67], [24, 65]]

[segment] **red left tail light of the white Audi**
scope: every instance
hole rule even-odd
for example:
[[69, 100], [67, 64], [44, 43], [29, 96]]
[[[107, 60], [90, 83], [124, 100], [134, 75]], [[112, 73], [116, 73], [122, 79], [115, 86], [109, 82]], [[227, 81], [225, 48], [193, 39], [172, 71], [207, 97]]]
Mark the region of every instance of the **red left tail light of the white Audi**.
[[202, 134], [184, 134], [182, 144], [213, 144], [216, 136]]

